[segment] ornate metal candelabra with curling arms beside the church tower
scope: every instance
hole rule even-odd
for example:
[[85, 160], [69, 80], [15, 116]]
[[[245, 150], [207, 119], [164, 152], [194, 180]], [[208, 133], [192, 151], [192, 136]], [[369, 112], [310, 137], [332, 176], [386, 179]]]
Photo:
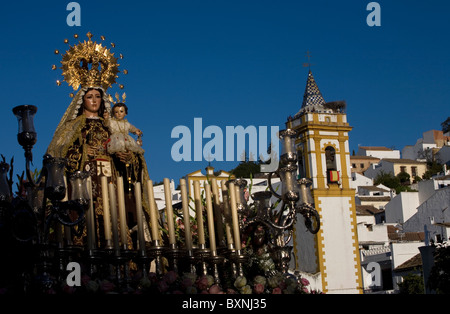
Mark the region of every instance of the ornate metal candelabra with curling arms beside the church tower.
[[[269, 249], [277, 269], [288, 273], [292, 246], [289, 245], [297, 214], [304, 217], [305, 225], [312, 233], [320, 228], [320, 216], [314, 208], [310, 191], [310, 181], [306, 178], [297, 180], [297, 154], [294, 148], [297, 133], [292, 129], [280, 132], [283, 141], [283, 151], [280, 156], [280, 166], [277, 171], [269, 173], [269, 191], [256, 192], [252, 195], [251, 205], [253, 216], [247, 216], [243, 232], [250, 225], [261, 224], [269, 232]], [[278, 175], [282, 182], [279, 194], [272, 185], [272, 177]], [[278, 202], [270, 204], [272, 197]]]

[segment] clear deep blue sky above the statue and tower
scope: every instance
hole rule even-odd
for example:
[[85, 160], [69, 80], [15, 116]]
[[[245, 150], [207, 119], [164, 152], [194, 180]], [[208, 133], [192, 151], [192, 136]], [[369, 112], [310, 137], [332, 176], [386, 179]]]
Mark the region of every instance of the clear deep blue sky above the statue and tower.
[[[70, 1], [9, 1], [0, 11], [0, 153], [23, 169], [12, 108], [38, 107], [34, 166], [70, 103], [60, 56], [73, 35], [114, 42], [122, 53], [128, 120], [144, 132], [154, 181], [204, 169], [175, 162], [176, 126], [279, 126], [299, 109], [308, 70], [326, 101], [346, 100], [350, 150], [402, 149], [450, 116], [450, 2], [377, 1], [381, 26], [369, 27], [368, 0], [77, 1], [81, 26], [66, 23]], [[117, 85], [109, 92], [122, 92]], [[208, 142], [203, 140], [203, 145]], [[212, 162], [230, 170], [235, 162]]]

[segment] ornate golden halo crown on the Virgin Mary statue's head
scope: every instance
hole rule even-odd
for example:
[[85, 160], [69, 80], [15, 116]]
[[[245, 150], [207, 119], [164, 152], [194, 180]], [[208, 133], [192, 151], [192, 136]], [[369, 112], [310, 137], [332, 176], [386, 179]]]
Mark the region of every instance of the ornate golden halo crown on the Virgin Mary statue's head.
[[[87, 33], [88, 41], [78, 42], [74, 46], [70, 46], [69, 50], [62, 55], [62, 75], [64, 81], [69, 86], [72, 86], [74, 90], [77, 90], [81, 85], [82, 87], [99, 87], [104, 90], [111, 87], [116, 83], [118, 77], [119, 63], [117, 58], [114, 57], [114, 53], [110, 49], [103, 46], [101, 43], [92, 41], [91, 32]], [[78, 38], [78, 35], [74, 35]], [[104, 36], [100, 37], [105, 40]], [[65, 39], [64, 43], [68, 44], [69, 40]], [[114, 43], [111, 43], [112, 47], [115, 47]], [[55, 54], [59, 54], [59, 50], [55, 50]], [[120, 54], [120, 59], [123, 56]], [[53, 70], [56, 70], [56, 65], [52, 66]], [[127, 74], [127, 70], [123, 70], [124, 74]], [[61, 81], [56, 81], [58, 85], [61, 85]], [[119, 85], [122, 89], [123, 85]]]

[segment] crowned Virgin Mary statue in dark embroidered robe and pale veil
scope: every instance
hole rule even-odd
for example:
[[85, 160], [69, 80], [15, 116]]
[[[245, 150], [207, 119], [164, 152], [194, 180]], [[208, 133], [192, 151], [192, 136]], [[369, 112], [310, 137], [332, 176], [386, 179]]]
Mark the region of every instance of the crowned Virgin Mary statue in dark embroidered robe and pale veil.
[[[110, 115], [111, 97], [106, 91], [115, 83], [119, 65], [109, 49], [93, 42], [92, 34], [88, 33], [88, 37], [88, 41], [70, 47], [63, 55], [61, 63], [64, 81], [74, 90], [79, 90], [59, 122], [47, 153], [53, 157], [66, 158], [67, 177], [77, 171], [89, 173], [92, 182], [95, 245], [107, 247], [111, 243], [105, 241], [105, 238], [109, 238], [105, 237], [105, 232], [108, 234], [110, 231], [104, 229], [108, 224], [103, 217], [103, 197], [106, 196], [102, 194], [101, 177], [106, 177], [107, 182], [114, 185], [117, 185], [119, 177], [125, 177], [126, 220], [127, 227], [131, 230], [137, 221], [133, 183], [141, 182], [144, 191], [144, 216], [148, 216], [149, 206], [145, 192], [149, 175], [143, 153], [107, 152], [110, 131], [105, 125], [105, 117]], [[119, 168], [127, 169], [128, 172]], [[146, 241], [150, 241], [146, 223], [148, 219], [143, 221]], [[67, 243], [86, 245], [86, 228], [79, 229], [84, 231], [72, 230], [70, 239], [66, 239]], [[122, 245], [127, 242], [125, 245], [131, 249], [134, 244], [129, 230], [127, 240], [121, 241]]]

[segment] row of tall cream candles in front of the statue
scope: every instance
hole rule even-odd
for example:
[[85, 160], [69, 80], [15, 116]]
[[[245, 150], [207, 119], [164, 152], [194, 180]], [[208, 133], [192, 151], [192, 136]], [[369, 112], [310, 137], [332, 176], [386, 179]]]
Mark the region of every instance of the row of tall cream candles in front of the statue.
[[[119, 254], [120, 249], [127, 249], [127, 220], [125, 210], [125, 194], [123, 188], [123, 178], [117, 177], [117, 193], [113, 182], [109, 182], [107, 177], [101, 177], [101, 189], [103, 199], [103, 219], [104, 219], [104, 235], [106, 248], [114, 249]], [[153, 243], [159, 243], [160, 230], [159, 230], [159, 210], [156, 206], [153, 182], [147, 181], [147, 194], [149, 204], [149, 218], [150, 218], [150, 230]], [[88, 190], [90, 193], [92, 183], [88, 179]], [[185, 249], [192, 251], [194, 243], [191, 232], [190, 221], [190, 208], [188, 200], [188, 192], [186, 186], [186, 180], [180, 179], [181, 198], [182, 198], [182, 213], [185, 233]], [[201, 199], [200, 182], [193, 182], [194, 188], [194, 204], [195, 204], [195, 218], [197, 222], [198, 243], [197, 247], [206, 248], [205, 230], [204, 230], [204, 215], [203, 205]], [[213, 178], [211, 184], [207, 181], [204, 183], [205, 199], [206, 199], [206, 220], [209, 236], [209, 250], [211, 256], [217, 256], [217, 242], [224, 243], [224, 230], [222, 223], [222, 212], [220, 209], [220, 195], [217, 180]], [[243, 200], [240, 196], [240, 188], [233, 183], [233, 180], [221, 181], [221, 189], [223, 196], [223, 215], [225, 217], [225, 233], [227, 237], [227, 245], [229, 249], [241, 250], [240, 229], [238, 220], [238, 204]], [[134, 196], [136, 203], [136, 220], [137, 220], [137, 243], [138, 251], [141, 256], [146, 255], [145, 245], [145, 215], [142, 205], [142, 186], [140, 182], [134, 183]], [[174, 210], [172, 206], [172, 192], [170, 189], [170, 180], [164, 179], [164, 195], [165, 195], [165, 221], [168, 229], [168, 245], [170, 247], [177, 247]], [[117, 196], [117, 198], [116, 198]], [[214, 203], [214, 206], [213, 206]], [[214, 217], [220, 223], [215, 227]], [[92, 197], [90, 200], [90, 209], [86, 216], [87, 221], [87, 237], [88, 237], [88, 249], [94, 250], [96, 248], [95, 239], [95, 225], [94, 225], [94, 208]], [[216, 241], [216, 231], [218, 241]], [[119, 241], [120, 238], [120, 241]], [[156, 242], [155, 242], [156, 241]]]

